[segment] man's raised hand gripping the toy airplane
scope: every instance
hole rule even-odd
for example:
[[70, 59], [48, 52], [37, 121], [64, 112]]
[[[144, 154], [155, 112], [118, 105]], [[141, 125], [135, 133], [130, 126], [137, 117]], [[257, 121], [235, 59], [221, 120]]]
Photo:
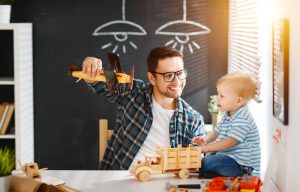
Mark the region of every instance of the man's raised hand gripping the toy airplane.
[[95, 57], [86, 57], [82, 63], [82, 72], [89, 77], [95, 78], [96, 75], [103, 73], [102, 61]]

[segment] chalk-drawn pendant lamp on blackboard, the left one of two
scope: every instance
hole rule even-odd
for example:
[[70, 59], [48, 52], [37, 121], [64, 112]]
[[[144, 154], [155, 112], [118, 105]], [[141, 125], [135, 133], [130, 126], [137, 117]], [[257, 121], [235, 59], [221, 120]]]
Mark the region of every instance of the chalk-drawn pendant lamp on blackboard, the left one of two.
[[[125, 20], [125, 0], [122, 0], [122, 20], [114, 20], [96, 28], [93, 32], [93, 36], [99, 35], [113, 35], [115, 40], [119, 43], [123, 43], [122, 49], [123, 53], [126, 53], [126, 45], [125, 41], [128, 39], [128, 35], [146, 35], [147, 32], [145, 29], [131, 21]], [[129, 41], [129, 44], [137, 49], [137, 45], [135, 45], [132, 41]], [[101, 49], [106, 49], [112, 46], [112, 43], [109, 42], [101, 47]], [[119, 48], [119, 44], [116, 44], [113, 48], [112, 52], [117, 52]]]

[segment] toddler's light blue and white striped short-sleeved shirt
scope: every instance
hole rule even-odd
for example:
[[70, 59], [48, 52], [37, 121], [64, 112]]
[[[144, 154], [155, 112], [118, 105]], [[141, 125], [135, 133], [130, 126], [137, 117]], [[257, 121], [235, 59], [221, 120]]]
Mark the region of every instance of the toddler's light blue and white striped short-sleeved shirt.
[[232, 116], [224, 114], [215, 131], [219, 133], [216, 141], [226, 137], [237, 140], [234, 147], [218, 153], [228, 155], [240, 165], [253, 167], [256, 172], [260, 172], [260, 137], [247, 105], [242, 106]]

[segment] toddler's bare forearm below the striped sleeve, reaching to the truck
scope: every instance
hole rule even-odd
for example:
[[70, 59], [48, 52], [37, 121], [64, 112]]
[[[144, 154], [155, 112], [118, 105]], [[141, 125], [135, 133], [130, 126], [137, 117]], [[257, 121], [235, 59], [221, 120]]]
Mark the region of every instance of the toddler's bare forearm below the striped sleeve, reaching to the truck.
[[235, 140], [232, 137], [226, 137], [223, 140], [216, 141], [214, 143], [210, 143], [208, 145], [202, 146], [201, 150], [203, 153], [223, 151], [232, 148], [236, 144], [237, 144], [237, 140]]

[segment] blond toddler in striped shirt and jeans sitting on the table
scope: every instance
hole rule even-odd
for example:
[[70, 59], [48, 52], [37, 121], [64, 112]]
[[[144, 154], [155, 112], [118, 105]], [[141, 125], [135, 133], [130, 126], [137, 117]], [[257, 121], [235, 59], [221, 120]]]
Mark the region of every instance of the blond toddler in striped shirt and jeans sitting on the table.
[[248, 74], [234, 72], [217, 82], [217, 104], [224, 115], [205, 137], [194, 137], [204, 153], [200, 176], [241, 176], [244, 170], [260, 171], [260, 137], [247, 103], [256, 95], [257, 83]]

